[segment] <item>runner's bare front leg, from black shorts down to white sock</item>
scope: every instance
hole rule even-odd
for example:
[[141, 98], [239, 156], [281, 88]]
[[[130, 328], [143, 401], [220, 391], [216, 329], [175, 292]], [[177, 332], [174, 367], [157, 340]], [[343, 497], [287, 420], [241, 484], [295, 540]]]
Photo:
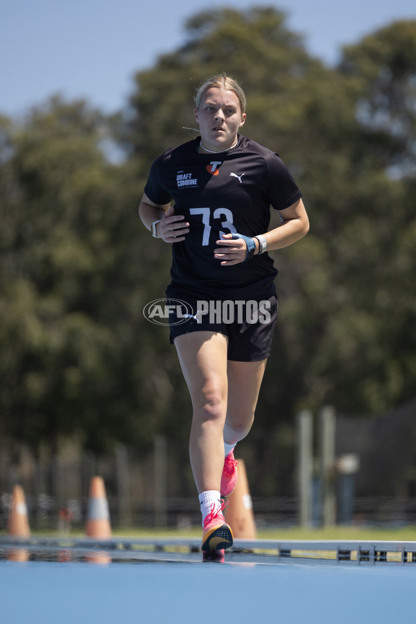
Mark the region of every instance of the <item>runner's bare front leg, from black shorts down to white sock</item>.
[[227, 415], [227, 338], [195, 331], [175, 338], [193, 406], [189, 456], [198, 492], [220, 490]]

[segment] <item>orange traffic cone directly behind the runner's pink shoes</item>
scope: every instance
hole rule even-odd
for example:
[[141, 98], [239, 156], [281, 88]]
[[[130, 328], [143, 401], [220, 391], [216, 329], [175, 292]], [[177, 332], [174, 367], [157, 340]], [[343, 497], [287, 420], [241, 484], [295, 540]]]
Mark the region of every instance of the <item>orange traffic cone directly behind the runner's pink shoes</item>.
[[225, 508], [225, 519], [232, 528], [234, 537], [245, 537], [245, 539], [256, 539], [256, 524], [254, 522], [253, 505], [248, 488], [247, 471], [244, 460], [239, 462], [239, 480], [236, 489], [228, 499]]

